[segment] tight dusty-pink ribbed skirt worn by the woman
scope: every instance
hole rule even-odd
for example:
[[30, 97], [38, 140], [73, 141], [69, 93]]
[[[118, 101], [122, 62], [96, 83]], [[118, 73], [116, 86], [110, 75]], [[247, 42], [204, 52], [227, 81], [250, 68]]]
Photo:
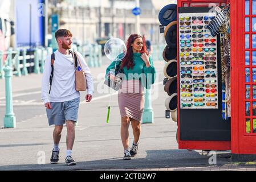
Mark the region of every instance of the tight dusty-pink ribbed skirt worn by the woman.
[[141, 121], [144, 110], [144, 88], [139, 80], [124, 80], [118, 93], [121, 117]]

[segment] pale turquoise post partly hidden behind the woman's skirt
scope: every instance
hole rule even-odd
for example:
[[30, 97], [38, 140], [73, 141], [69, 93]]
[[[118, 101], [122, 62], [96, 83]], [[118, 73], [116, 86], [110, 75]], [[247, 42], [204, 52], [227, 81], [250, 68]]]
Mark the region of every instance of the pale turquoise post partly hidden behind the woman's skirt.
[[151, 90], [145, 89], [145, 105], [143, 112], [142, 123], [153, 123], [154, 122], [154, 112], [151, 103]]

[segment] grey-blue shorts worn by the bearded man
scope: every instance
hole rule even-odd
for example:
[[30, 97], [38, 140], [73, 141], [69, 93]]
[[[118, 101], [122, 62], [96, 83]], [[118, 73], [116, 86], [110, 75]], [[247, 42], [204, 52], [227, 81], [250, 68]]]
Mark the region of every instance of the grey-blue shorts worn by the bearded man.
[[49, 126], [63, 125], [67, 120], [78, 121], [80, 98], [65, 102], [51, 102], [52, 109], [46, 109]]

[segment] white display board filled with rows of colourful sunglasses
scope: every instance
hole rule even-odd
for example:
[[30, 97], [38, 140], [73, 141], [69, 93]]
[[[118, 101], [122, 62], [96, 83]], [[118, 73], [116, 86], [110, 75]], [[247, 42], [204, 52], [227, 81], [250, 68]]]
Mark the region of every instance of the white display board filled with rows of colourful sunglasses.
[[217, 36], [207, 28], [214, 16], [178, 15], [180, 109], [218, 109]]

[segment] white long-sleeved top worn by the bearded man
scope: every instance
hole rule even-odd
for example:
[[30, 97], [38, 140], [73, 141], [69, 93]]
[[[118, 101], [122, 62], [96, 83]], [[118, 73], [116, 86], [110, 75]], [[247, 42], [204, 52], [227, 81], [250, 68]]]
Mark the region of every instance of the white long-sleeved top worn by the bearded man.
[[[70, 101], [80, 97], [80, 93], [75, 90], [75, 65], [72, 55], [63, 55], [63, 53], [60, 53], [58, 50], [55, 51], [54, 54], [54, 76], [52, 77], [50, 98], [51, 55], [47, 56], [44, 63], [41, 93], [44, 104], [47, 102]], [[82, 68], [86, 73], [87, 93], [92, 95], [94, 93], [94, 83], [92, 81], [90, 68], [79, 52], [76, 52], [76, 55], [78, 55]]]

